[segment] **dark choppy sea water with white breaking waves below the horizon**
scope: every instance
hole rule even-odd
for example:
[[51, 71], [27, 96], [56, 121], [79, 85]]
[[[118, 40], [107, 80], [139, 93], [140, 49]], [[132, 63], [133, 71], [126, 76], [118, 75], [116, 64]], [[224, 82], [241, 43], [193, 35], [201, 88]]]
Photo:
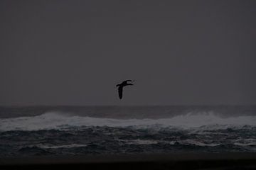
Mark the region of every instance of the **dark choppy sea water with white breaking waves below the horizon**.
[[0, 157], [256, 152], [256, 106], [0, 107]]

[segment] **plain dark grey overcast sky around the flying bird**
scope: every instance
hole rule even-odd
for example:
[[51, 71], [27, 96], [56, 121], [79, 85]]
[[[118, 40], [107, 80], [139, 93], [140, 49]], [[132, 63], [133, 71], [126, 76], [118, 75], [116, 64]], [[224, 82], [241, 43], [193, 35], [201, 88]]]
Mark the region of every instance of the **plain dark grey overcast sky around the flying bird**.
[[0, 105], [256, 104], [255, 18], [256, 1], [2, 0]]

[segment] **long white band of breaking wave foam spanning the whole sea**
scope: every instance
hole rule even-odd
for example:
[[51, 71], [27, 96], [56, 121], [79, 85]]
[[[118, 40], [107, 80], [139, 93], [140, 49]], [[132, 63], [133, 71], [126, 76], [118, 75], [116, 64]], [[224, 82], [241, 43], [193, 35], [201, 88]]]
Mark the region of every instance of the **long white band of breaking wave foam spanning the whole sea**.
[[19, 117], [0, 119], [0, 131], [9, 130], [50, 130], [80, 127], [80, 126], [109, 126], [137, 128], [149, 127], [173, 127], [173, 128], [229, 128], [233, 126], [256, 126], [256, 116], [238, 116], [232, 118], [220, 118], [214, 113], [198, 113], [178, 115], [173, 118], [161, 119], [112, 119], [91, 118], [77, 115], [65, 115], [62, 113], [44, 113], [33, 117]]

